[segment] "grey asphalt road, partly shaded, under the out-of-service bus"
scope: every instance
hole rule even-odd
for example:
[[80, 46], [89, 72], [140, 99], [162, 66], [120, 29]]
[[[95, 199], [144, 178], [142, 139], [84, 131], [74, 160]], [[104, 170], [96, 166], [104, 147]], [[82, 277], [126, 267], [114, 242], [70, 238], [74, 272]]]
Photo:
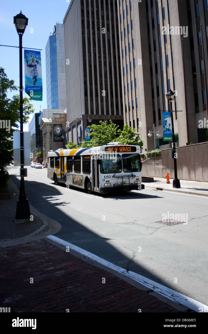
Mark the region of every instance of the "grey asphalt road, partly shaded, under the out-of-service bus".
[[[27, 198], [62, 225], [57, 237], [208, 305], [207, 198], [156, 190], [90, 195], [54, 185], [47, 170], [27, 170]], [[19, 167], [9, 173], [19, 187]], [[187, 223], [158, 223], [168, 212]]]

